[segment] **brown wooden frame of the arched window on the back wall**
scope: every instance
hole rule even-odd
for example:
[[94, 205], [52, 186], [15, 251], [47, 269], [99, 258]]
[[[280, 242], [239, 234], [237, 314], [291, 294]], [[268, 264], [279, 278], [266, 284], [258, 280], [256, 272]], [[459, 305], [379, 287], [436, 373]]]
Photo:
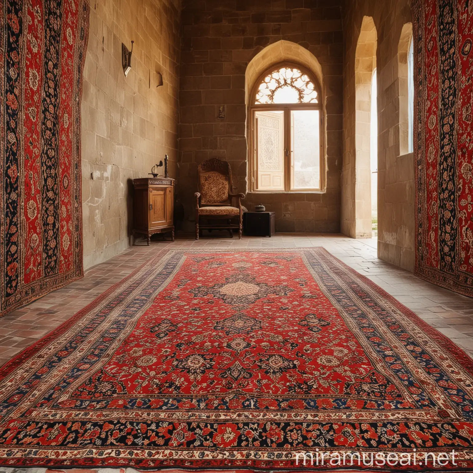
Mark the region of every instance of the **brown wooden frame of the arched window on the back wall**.
[[[256, 94], [263, 79], [275, 70], [283, 67], [298, 69], [306, 74], [314, 83], [315, 91], [317, 92], [317, 103], [309, 104], [255, 104]], [[306, 188], [306, 189], [291, 189], [291, 111], [292, 110], [318, 110], [319, 111], [319, 158], [320, 158], [320, 187]], [[256, 138], [256, 112], [264, 111], [282, 111], [284, 113], [284, 189], [281, 190], [267, 190], [258, 189], [258, 158], [257, 158], [257, 138]], [[321, 88], [318, 80], [314, 74], [307, 70], [307, 68], [292, 62], [283, 62], [273, 65], [267, 69], [256, 81], [251, 93], [251, 105], [249, 107], [249, 188], [250, 192], [254, 193], [324, 193], [325, 192], [325, 110], [324, 100], [321, 93]]]

